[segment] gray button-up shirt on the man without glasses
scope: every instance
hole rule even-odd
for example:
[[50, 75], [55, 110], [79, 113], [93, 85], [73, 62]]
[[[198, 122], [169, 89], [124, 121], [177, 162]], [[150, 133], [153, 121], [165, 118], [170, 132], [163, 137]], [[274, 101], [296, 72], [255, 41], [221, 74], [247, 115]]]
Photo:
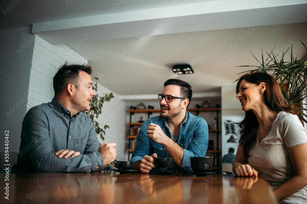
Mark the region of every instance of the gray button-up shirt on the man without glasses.
[[[71, 117], [54, 97], [52, 102], [35, 106], [25, 115], [12, 173], [102, 171], [103, 158], [98, 148], [90, 117], [84, 113]], [[81, 155], [58, 158], [54, 153], [62, 149], [79, 151]]]

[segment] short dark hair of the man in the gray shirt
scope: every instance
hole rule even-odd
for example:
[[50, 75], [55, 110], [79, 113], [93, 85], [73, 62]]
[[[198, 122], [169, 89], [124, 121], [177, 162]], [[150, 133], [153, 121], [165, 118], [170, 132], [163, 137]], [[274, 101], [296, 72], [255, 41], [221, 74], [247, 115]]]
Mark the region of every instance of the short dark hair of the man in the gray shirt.
[[91, 66], [84, 65], [68, 65], [67, 62], [59, 68], [56, 75], [53, 77], [54, 95], [60, 95], [69, 83], [72, 83], [76, 88], [79, 87], [79, 72], [84, 71], [88, 74], [92, 73]]

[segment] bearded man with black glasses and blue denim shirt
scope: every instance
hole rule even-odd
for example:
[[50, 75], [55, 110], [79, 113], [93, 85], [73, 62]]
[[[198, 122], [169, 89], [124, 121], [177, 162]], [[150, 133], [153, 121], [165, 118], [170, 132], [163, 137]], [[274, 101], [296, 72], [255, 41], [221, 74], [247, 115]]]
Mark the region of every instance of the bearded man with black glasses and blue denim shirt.
[[192, 98], [191, 85], [169, 79], [158, 98], [160, 116], [142, 124], [130, 159], [134, 161], [133, 168], [148, 173], [155, 168], [153, 158], [162, 157], [173, 159], [173, 170], [191, 172], [190, 158], [204, 157], [208, 147], [206, 121], [187, 111]]

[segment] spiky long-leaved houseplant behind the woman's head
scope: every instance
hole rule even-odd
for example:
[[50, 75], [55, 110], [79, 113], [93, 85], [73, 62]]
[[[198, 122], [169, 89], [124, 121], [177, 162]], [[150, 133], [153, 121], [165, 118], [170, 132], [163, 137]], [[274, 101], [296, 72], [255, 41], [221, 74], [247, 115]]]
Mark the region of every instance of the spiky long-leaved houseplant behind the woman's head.
[[[301, 40], [300, 40], [301, 41]], [[304, 43], [301, 41], [302, 45], [305, 47], [306, 53], [307, 49]], [[285, 61], [285, 55], [287, 51], [291, 48], [291, 61]], [[274, 49], [274, 48], [273, 48]], [[285, 101], [288, 107], [291, 108], [293, 113], [301, 118], [302, 121], [307, 123], [304, 119], [304, 116], [307, 117], [303, 111], [307, 111], [302, 105], [304, 99], [307, 97], [307, 94], [302, 93], [306, 91], [307, 93], [307, 54], [301, 59], [294, 58], [292, 45], [282, 53], [274, 54], [273, 49], [270, 53], [266, 52], [267, 58], [263, 56], [263, 50], [261, 50], [261, 59], [258, 60], [254, 54], [252, 54], [255, 59], [260, 63], [260, 65], [244, 65], [239, 67], [256, 67], [249, 71], [241, 72], [238, 74], [252, 73], [256, 71], [266, 72], [273, 76], [279, 83], [282, 94], [285, 97]]]

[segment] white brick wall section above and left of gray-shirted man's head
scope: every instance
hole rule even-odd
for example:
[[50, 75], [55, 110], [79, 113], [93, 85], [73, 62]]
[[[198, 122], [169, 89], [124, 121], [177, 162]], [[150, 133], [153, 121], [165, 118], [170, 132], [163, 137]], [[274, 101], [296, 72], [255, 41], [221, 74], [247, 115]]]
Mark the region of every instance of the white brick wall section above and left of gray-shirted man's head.
[[87, 60], [66, 45], [51, 45], [35, 36], [29, 83], [27, 111], [54, 96], [52, 78], [58, 68], [68, 63], [87, 64]]

